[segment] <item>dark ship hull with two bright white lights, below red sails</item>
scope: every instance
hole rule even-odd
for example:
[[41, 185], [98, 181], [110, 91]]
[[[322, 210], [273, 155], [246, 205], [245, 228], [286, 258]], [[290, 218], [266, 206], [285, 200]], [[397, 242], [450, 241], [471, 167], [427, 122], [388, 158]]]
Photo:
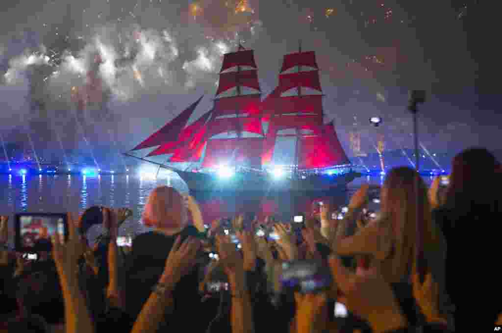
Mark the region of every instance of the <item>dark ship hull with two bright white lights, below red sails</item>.
[[199, 172], [178, 172], [191, 192], [324, 192], [345, 188], [348, 183], [362, 176], [357, 172], [339, 176], [312, 175], [305, 179], [274, 179], [263, 175], [237, 173], [224, 179], [217, 175]]

